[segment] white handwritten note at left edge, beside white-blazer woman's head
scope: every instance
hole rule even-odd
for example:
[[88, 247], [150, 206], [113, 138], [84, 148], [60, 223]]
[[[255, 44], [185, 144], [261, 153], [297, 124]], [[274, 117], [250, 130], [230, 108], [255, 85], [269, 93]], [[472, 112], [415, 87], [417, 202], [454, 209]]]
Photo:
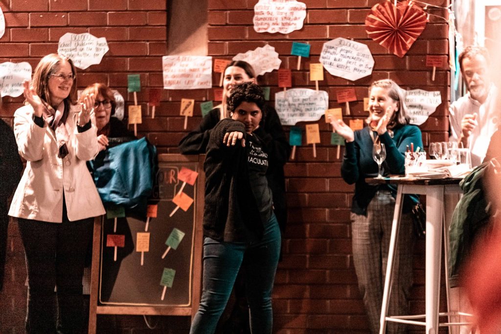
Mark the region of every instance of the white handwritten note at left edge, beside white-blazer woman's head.
[[30, 63], [0, 64], [0, 95], [17, 97], [23, 94], [23, 81], [31, 81], [32, 67]]

